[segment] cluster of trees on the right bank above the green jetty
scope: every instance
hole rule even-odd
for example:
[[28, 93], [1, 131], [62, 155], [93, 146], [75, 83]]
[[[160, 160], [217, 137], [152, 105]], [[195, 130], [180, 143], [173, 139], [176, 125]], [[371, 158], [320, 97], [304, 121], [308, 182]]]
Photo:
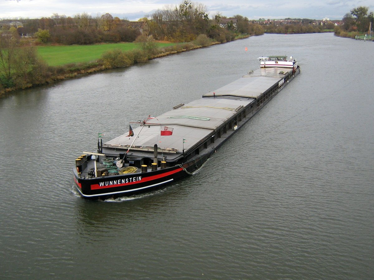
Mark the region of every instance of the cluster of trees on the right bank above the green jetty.
[[343, 23], [334, 28], [334, 34], [340, 37], [355, 38], [356, 35], [370, 32], [370, 23], [374, 26], [373, 12], [369, 7], [359, 6], [346, 13], [341, 20]]

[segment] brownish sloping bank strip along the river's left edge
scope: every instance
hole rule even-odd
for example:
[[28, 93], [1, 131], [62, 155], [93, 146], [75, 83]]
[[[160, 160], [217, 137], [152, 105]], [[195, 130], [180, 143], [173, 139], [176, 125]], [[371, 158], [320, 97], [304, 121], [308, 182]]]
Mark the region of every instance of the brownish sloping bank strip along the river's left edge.
[[[240, 35], [234, 40], [248, 38], [251, 36], [252, 35]], [[223, 42], [223, 43], [227, 43], [227, 42]], [[152, 52], [147, 52], [145, 50], [143, 51], [132, 50], [132, 51], [127, 51], [127, 52], [114, 50], [116, 51], [115, 62], [113, 62], [113, 59], [106, 59], [104, 57], [105, 54], [103, 54], [101, 58], [97, 59], [96, 61], [88, 62], [88, 63], [70, 63], [70, 64], [62, 65], [62, 66], [45, 65], [45, 67], [48, 68], [47, 71], [49, 72], [43, 82], [27, 83], [19, 87], [9, 87], [9, 88], [0, 89], [0, 98], [5, 96], [8, 93], [11, 93], [17, 90], [37, 87], [40, 85], [52, 84], [56, 81], [62, 81], [62, 80], [70, 79], [70, 78], [81, 77], [84, 75], [89, 75], [95, 72], [104, 71], [108, 69], [128, 67], [128, 66], [135, 65], [136, 63], [139, 63], [139, 62], [146, 62], [151, 59], [173, 55], [175, 53], [186, 52], [188, 50], [200, 49], [202, 47], [208, 47], [208, 46], [213, 46], [215, 44], [223, 44], [223, 43], [221, 42], [205, 43], [204, 42], [203, 44], [197, 44], [196, 42], [194, 42], [194, 43], [175, 44], [173, 46], [167, 46], [167, 47], [162, 47], [162, 48], [152, 50]], [[118, 63], [119, 55], [125, 57], [125, 59], [122, 59], [122, 60], [125, 60], [125, 62], [121, 61], [122, 63]], [[110, 53], [108, 54], [108, 56], [110, 56]]]

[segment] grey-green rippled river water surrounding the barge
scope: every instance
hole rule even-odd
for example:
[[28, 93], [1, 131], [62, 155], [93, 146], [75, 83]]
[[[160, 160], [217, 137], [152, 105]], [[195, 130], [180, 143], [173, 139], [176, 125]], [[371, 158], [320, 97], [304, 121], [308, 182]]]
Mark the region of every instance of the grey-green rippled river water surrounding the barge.
[[[245, 47], [248, 51], [245, 51]], [[265, 34], [0, 99], [0, 275], [373, 279], [371, 42]], [[199, 172], [86, 201], [77, 155], [288, 55], [298, 75]]]

